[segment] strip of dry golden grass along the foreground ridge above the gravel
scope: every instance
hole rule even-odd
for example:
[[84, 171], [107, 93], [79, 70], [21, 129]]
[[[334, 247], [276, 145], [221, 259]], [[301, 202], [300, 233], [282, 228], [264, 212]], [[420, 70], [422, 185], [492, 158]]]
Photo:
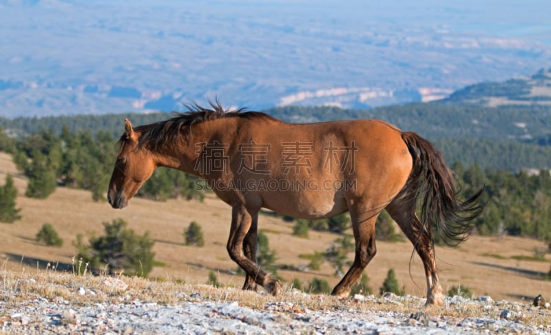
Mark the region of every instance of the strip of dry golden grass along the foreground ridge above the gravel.
[[[76, 275], [67, 272], [45, 270], [0, 270], [0, 293], [6, 307], [17, 306], [37, 298], [45, 298], [56, 303], [70, 303], [73, 306], [87, 306], [95, 303], [125, 303], [135, 300], [154, 302], [161, 305], [185, 305], [189, 301], [214, 301], [218, 303], [237, 301], [239, 305], [256, 310], [264, 310], [267, 303], [291, 303], [286, 312], [302, 314], [308, 310], [357, 310], [366, 314], [396, 312], [403, 317], [422, 311], [433, 320], [450, 319], [459, 322], [464, 318], [499, 318], [502, 310], [517, 313], [515, 320], [532, 327], [551, 325], [551, 310], [531, 307], [529, 304], [479, 303], [467, 301], [444, 307], [424, 307], [423, 299], [335, 298], [326, 295], [305, 294], [287, 288], [280, 296], [242, 291], [238, 288], [214, 288], [211, 285], [185, 283], [180, 281], [154, 281], [138, 277], [121, 276], [118, 280], [126, 283], [127, 289], [117, 290], [107, 287], [105, 279], [90, 274]], [[78, 294], [83, 288], [86, 294]], [[94, 292], [91, 294], [90, 292]], [[198, 296], [196, 296], [198, 294]], [[400, 317], [400, 316], [398, 316]], [[8, 316], [0, 315], [0, 322]]]

